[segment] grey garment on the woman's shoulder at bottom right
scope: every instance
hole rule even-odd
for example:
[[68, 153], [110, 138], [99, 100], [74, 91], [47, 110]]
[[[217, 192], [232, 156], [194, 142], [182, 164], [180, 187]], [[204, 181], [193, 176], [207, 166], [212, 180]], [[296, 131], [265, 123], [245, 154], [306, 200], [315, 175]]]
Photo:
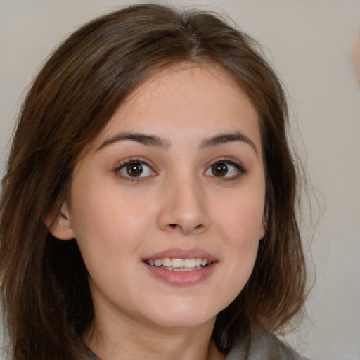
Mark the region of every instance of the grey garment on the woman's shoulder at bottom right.
[[271, 333], [257, 333], [250, 342], [238, 340], [226, 360], [308, 360]]

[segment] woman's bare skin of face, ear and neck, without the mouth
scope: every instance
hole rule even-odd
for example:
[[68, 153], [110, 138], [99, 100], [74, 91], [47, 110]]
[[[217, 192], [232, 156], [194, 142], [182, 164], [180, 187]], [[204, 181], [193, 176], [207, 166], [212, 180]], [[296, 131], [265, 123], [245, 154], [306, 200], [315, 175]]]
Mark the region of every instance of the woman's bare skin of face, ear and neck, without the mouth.
[[[162, 143], [119, 139], [129, 132]], [[243, 138], [206, 143], [235, 133]], [[141, 176], [131, 179], [129, 160], [142, 163]], [[228, 75], [183, 65], [150, 77], [79, 156], [70, 203], [51, 227], [76, 238], [89, 271], [89, 347], [102, 360], [224, 359], [210, 337], [251, 274], [264, 197], [257, 113]], [[210, 276], [191, 285], [154, 276], [143, 259], [173, 248], [209, 252]]]

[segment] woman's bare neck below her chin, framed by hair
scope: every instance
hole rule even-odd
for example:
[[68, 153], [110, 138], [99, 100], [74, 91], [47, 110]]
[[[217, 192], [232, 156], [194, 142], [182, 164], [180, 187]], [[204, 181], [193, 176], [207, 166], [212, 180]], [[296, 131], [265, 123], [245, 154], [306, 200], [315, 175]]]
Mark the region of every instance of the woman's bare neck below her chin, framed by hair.
[[224, 359], [211, 340], [214, 319], [194, 328], [161, 328], [139, 324], [134, 319], [97, 319], [84, 335], [84, 342], [101, 360], [117, 359]]

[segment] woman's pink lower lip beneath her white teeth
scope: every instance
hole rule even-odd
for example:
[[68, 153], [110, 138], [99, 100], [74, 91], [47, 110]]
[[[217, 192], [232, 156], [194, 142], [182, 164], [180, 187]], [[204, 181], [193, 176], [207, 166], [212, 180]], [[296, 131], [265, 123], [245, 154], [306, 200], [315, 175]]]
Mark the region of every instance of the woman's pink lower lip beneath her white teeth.
[[203, 267], [199, 270], [193, 270], [193, 271], [170, 271], [167, 269], [163, 269], [156, 266], [150, 266], [143, 263], [148, 271], [150, 271], [150, 274], [152, 276], [155, 276], [156, 278], [159, 278], [162, 281], [165, 281], [166, 283], [169, 283], [171, 285], [194, 285], [196, 283], [200, 283], [201, 281], [204, 281], [205, 279], [209, 278], [214, 269], [217, 266], [217, 262], [212, 262], [211, 265]]

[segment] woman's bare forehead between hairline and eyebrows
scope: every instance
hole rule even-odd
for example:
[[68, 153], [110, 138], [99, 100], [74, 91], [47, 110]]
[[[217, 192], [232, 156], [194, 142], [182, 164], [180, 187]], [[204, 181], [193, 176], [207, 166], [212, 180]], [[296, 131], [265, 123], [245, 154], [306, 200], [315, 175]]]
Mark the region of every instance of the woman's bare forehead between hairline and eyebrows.
[[181, 64], [156, 72], [133, 91], [95, 142], [117, 131], [186, 138], [234, 129], [259, 143], [257, 112], [248, 96], [216, 65]]

